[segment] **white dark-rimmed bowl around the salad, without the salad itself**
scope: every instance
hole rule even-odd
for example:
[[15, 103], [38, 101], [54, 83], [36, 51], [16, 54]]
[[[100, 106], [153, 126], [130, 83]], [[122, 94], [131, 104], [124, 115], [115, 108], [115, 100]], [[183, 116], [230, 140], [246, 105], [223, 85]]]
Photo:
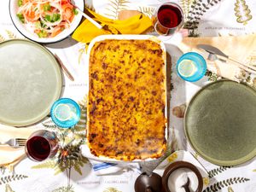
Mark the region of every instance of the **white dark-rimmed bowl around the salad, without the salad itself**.
[[[55, 43], [63, 40], [64, 38], [67, 38], [69, 35], [73, 33], [73, 31], [79, 26], [80, 21], [82, 20], [82, 15], [78, 12], [77, 15], [74, 16], [70, 26], [66, 29], [64, 29], [62, 32], [60, 32], [58, 35], [56, 35], [53, 38], [39, 38], [38, 34], [33, 32], [31, 29], [29, 29], [28, 26], [23, 24], [20, 19], [17, 16], [18, 13], [18, 2], [19, 0], [10, 0], [9, 1], [9, 15], [11, 17], [11, 20], [13, 21], [15, 27], [17, 30], [26, 38], [29, 38], [32, 41], [42, 43], [42, 44], [50, 44]], [[73, 4], [81, 10], [84, 10], [84, 0], [73, 0]]]

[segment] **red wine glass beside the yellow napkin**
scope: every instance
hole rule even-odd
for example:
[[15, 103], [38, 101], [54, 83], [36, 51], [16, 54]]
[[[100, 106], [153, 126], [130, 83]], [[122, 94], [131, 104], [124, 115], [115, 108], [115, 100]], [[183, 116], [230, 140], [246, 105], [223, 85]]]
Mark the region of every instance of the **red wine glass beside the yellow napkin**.
[[177, 3], [163, 3], [154, 15], [154, 30], [160, 35], [172, 35], [183, 26], [183, 9]]

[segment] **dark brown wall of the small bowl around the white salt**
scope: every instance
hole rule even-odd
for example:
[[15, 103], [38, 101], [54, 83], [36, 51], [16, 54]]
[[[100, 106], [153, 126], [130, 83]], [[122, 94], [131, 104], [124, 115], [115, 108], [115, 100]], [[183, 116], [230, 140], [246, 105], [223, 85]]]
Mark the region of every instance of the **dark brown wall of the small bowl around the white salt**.
[[172, 163], [170, 166], [166, 167], [166, 170], [162, 177], [162, 185], [163, 185], [163, 189], [165, 190], [165, 192], [173, 192], [168, 188], [168, 178], [170, 177], [172, 172], [174, 172], [175, 170], [180, 169], [180, 168], [187, 168], [187, 169], [191, 170], [192, 172], [195, 172], [195, 175], [198, 179], [198, 187], [195, 190], [195, 192], [201, 192], [202, 188], [203, 188], [203, 179], [201, 177], [201, 173], [193, 164], [186, 162], [186, 161], [176, 161], [176, 162]]

